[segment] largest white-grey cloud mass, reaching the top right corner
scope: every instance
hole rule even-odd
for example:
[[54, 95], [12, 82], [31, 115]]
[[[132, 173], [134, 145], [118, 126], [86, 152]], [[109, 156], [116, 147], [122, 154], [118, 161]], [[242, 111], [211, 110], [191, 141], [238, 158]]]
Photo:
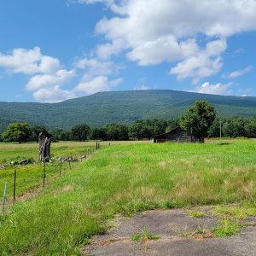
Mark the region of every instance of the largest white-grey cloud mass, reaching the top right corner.
[[[142, 66], [177, 62], [171, 74], [178, 79], [198, 80], [218, 73], [226, 39], [256, 29], [253, 0], [79, 0], [100, 2], [116, 15], [96, 24], [96, 32], [107, 41], [97, 47], [99, 57], [106, 59], [125, 51], [131, 61]], [[215, 42], [212, 49], [209, 41]], [[224, 45], [218, 54], [214, 49], [217, 43]], [[195, 65], [196, 61], [200, 63]]]

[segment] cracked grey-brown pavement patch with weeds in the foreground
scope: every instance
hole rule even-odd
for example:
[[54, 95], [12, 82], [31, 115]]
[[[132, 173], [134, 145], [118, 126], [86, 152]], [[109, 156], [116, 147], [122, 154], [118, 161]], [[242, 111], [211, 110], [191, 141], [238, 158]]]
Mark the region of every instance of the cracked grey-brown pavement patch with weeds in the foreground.
[[[220, 216], [212, 214], [212, 207], [195, 208], [203, 217], [193, 218], [183, 209], [148, 211], [133, 218], [116, 218], [114, 227], [103, 236], [96, 236], [87, 247], [85, 255], [256, 255], [256, 228], [253, 219], [236, 236], [214, 238], [212, 227]], [[131, 236], [147, 228], [157, 241], [132, 241]]]

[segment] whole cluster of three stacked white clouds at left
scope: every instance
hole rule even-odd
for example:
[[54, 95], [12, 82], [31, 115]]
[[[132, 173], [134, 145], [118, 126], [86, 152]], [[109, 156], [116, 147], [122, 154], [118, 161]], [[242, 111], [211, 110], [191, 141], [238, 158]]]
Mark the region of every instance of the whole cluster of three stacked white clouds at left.
[[27, 75], [26, 89], [34, 91], [33, 96], [39, 102], [60, 102], [75, 96], [73, 91], [61, 90], [61, 84], [72, 79], [75, 71], [63, 69], [58, 59], [43, 55], [39, 47], [0, 53], [0, 67], [9, 73]]

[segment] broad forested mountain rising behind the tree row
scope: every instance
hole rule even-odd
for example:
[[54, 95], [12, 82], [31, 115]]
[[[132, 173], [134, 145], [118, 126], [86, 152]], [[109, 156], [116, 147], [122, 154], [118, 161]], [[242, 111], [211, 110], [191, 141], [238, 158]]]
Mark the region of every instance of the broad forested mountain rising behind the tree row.
[[0, 131], [12, 122], [69, 129], [81, 123], [101, 126], [131, 124], [137, 119], [173, 119], [197, 99], [211, 102], [219, 116], [256, 116], [256, 97], [214, 96], [177, 90], [111, 91], [52, 104], [0, 102]]

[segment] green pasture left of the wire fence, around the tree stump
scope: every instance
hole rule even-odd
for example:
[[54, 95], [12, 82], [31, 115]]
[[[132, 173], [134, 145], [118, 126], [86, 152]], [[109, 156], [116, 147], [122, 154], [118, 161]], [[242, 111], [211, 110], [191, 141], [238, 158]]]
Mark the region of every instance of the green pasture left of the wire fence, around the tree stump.
[[[107, 144], [105, 143], [104, 146]], [[52, 143], [52, 157], [72, 156], [79, 158], [82, 154], [89, 155], [95, 148], [95, 143]], [[4, 183], [8, 183], [7, 195], [10, 202], [10, 195], [13, 194], [14, 173], [17, 172], [16, 195], [23, 195], [32, 189], [42, 186], [44, 165], [38, 163], [38, 143], [0, 143], [0, 165], [9, 163], [12, 160], [33, 159], [35, 164], [26, 166], [7, 166], [0, 170], [0, 189]], [[72, 166], [75, 165], [74, 163]], [[62, 163], [61, 172], [67, 172], [69, 166], [67, 162]], [[46, 183], [55, 177], [59, 177], [60, 162], [53, 161], [46, 163]]]

